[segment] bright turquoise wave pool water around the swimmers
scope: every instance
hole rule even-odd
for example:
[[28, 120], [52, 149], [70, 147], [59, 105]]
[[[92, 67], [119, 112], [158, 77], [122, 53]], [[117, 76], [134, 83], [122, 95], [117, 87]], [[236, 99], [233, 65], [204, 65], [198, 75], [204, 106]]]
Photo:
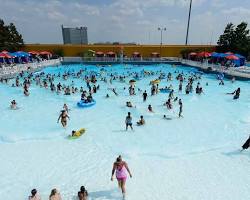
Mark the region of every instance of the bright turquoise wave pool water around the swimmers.
[[[46, 199], [54, 187], [63, 199], [74, 199], [79, 187], [85, 185], [90, 199], [121, 199], [116, 183], [110, 181], [112, 163], [121, 154], [131, 168], [133, 178], [127, 181], [126, 199], [248, 199], [249, 152], [239, 152], [250, 129], [250, 82], [225, 80], [219, 85], [215, 75], [202, 75], [204, 94], [178, 92], [178, 81], [163, 79], [160, 88], [172, 84], [174, 95], [183, 102], [183, 116], [178, 118], [178, 102], [173, 110], [163, 103], [168, 94], [150, 96], [150, 81], [160, 72], [183, 72], [187, 77], [197, 72], [194, 68], [171, 65], [154, 66], [86, 66], [64, 65], [48, 67], [45, 74], [63, 74], [86, 70], [83, 75], [97, 73], [102, 77], [126, 75], [125, 82], [112, 84], [98, 80], [100, 90], [93, 95], [96, 105], [78, 108], [81, 94], [66, 96], [33, 83], [30, 96], [23, 95], [21, 87], [0, 85], [0, 199], [25, 199], [35, 187]], [[132, 73], [153, 71], [136, 82], [136, 95], [128, 93]], [[40, 72], [39, 72], [40, 73]], [[100, 78], [98, 76], [98, 78]], [[109, 78], [108, 78], [109, 80]], [[61, 82], [87, 90], [81, 79], [70, 77]], [[206, 86], [208, 83], [208, 86]], [[126, 88], [124, 90], [124, 87]], [[233, 100], [233, 92], [241, 88], [241, 96]], [[116, 96], [111, 88], [116, 88]], [[143, 102], [142, 92], [148, 100]], [[110, 98], [105, 98], [106, 94]], [[11, 110], [11, 100], [17, 101], [18, 110]], [[125, 106], [131, 101], [136, 108]], [[70, 108], [68, 126], [63, 129], [57, 118], [66, 103]], [[151, 104], [154, 113], [149, 113]], [[131, 112], [134, 131], [125, 131], [125, 117]], [[163, 119], [167, 115], [169, 120]], [[135, 126], [140, 115], [145, 126]], [[72, 130], [85, 128], [77, 140], [68, 140]], [[14, 189], [14, 192], [13, 192]]]

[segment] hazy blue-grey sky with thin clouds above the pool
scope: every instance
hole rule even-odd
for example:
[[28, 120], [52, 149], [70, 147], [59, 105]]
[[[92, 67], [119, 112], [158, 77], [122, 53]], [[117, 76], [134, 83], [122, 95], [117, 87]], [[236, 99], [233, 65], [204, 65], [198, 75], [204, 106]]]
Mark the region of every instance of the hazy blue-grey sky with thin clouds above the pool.
[[[25, 43], [62, 43], [61, 24], [88, 27], [89, 43], [184, 44], [190, 0], [0, 0], [0, 18]], [[193, 0], [189, 44], [215, 44], [227, 23], [250, 24], [250, 0]]]

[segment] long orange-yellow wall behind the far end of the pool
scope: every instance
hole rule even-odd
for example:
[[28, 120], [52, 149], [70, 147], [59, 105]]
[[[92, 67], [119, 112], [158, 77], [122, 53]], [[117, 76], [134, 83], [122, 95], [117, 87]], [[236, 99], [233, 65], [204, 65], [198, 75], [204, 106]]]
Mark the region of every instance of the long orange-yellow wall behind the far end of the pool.
[[[124, 45], [124, 54], [130, 57], [133, 52], [138, 51], [143, 57], [149, 57], [152, 52], [161, 52], [164, 57], [179, 57], [180, 51], [183, 49], [204, 49], [204, 51], [214, 51], [215, 46], [211, 45]], [[120, 45], [62, 45], [62, 44], [26, 44], [24, 51], [51, 51], [55, 49], [63, 49], [64, 55], [69, 57], [79, 56], [80, 53], [87, 50], [102, 51], [104, 53], [113, 51], [119, 53]]]

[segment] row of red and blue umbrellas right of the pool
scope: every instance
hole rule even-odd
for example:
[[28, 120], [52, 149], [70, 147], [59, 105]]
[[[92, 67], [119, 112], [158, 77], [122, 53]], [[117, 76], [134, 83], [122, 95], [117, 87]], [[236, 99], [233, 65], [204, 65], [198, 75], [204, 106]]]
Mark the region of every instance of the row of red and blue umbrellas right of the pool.
[[208, 58], [208, 57], [215, 57], [215, 58], [226, 58], [228, 60], [239, 60], [241, 58], [245, 58], [244, 56], [241, 56], [239, 54], [234, 54], [232, 52], [226, 52], [226, 53], [217, 53], [217, 52], [191, 52], [189, 53], [189, 56], [197, 56], [197, 57], [201, 57], [201, 58]]

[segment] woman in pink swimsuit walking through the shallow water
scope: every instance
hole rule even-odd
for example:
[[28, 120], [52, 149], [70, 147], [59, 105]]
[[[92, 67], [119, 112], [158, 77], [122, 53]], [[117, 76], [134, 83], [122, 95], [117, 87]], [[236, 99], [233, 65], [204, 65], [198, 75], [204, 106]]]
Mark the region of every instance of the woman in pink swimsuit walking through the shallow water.
[[116, 162], [113, 164], [113, 169], [112, 169], [112, 175], [111, 175], [111, 181], [114, 180], [113, 176], [114, 173], [116, 173], [116, 179], [118, 181], [118, 186], [122, 190], [122, 196], [123, 199], [125, 199], [125, 194], [126, 194], [126, 179], [127, 179], [127, 172], [129, 173], [130, 178], [132, 178], [132, 174], [128, 168], [128, 165], [125, 161], [122, 160], [121, 156], [118, 156], [116, 159]]

